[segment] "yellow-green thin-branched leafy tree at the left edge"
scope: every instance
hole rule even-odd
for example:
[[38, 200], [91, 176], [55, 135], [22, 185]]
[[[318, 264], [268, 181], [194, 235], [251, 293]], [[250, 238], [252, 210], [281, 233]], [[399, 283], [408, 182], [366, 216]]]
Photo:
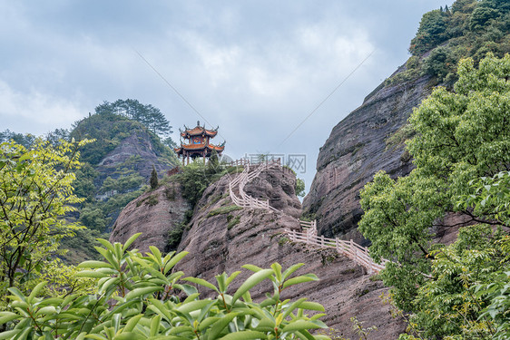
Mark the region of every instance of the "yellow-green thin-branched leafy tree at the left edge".
[[80, 166], [79, 143], [53, 147], [37, 140], [30, 149], [14, 141], [0, 144], [0, 296], [6, 287], [25, 289], [41, 273], [60, 239], [79, 228], [64, 219], [80, 203], [73, 193]]

